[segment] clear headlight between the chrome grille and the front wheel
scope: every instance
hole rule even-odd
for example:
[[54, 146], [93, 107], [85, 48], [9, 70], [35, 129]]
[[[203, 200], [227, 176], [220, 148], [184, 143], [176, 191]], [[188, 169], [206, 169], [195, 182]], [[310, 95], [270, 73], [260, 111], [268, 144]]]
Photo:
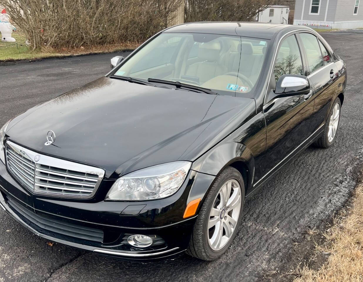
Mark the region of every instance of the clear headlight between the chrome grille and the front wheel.
[[112, 185], [106, 200], [151, 200], [174, 194], [183, 184], [191, 162], [154, 165], [122, 176]]

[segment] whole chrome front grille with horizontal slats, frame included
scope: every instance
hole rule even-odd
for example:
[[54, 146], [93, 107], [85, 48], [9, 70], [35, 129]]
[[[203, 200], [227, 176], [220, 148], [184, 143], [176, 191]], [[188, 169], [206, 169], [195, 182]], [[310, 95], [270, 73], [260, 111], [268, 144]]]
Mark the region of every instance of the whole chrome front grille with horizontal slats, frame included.
[[9, 171], [36, 194], [90, 198], [105, 174], [103, 169], [37, 154], [10, 141], [6, 145]]

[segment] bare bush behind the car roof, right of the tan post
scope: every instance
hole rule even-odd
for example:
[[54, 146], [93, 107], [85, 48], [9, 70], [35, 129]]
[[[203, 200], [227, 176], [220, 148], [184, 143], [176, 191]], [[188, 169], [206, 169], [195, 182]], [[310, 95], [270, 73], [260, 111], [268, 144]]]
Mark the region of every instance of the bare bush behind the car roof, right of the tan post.
[[185, 22], [252, 21], [271, 0], [184, 0]]

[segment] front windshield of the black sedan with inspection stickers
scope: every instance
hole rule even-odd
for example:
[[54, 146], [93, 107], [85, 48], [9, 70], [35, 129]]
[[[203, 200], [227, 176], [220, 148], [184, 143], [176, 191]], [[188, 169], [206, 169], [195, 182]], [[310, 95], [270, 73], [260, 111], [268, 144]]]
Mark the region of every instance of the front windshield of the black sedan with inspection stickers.
[[267, 40], [201, 33], [162, 33], [129, 58], [114, 75], [162, 79], [249, 93], [260, 77]]

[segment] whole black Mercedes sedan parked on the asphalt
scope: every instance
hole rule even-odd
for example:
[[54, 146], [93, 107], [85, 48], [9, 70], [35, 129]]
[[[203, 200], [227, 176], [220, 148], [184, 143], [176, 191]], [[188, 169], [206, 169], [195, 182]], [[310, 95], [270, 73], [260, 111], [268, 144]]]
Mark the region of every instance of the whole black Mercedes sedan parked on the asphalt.
[[221, 256], [245, 201], [334, 143], [347, 81], [319, 34], [282, 24], [178, 25], [111, 66], [1, 128], [0, 206], [47, 240], [134, 260]]

